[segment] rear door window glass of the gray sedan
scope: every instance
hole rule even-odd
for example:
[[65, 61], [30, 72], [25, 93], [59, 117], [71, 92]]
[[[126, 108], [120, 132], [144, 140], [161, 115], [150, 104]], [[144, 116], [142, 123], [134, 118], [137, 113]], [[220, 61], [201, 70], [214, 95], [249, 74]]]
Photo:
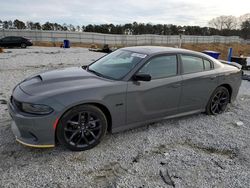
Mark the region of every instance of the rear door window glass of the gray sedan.
[[181, 55], [183, 73], [203, 71], [203, 59], [195, 56]]

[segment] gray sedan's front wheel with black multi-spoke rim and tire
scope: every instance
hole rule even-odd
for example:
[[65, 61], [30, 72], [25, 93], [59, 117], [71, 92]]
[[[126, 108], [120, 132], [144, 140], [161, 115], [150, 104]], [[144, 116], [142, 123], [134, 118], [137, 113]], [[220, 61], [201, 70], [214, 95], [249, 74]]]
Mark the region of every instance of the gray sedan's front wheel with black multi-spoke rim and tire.
[[60, 119], [56, 134], [58, 141], [72, 151], [95, 147], [107, 132], [104, 113], [92, 105], [80, 105], [66, 112]]

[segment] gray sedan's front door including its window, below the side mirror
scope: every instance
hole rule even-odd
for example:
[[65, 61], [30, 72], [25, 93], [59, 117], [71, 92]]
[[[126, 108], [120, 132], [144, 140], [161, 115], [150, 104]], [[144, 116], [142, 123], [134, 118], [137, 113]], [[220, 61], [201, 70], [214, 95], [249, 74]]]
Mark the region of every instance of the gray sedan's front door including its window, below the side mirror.
[[129, 81], [127, 124], [143, 122], [178, 113], [182, 77], [177, 55], [151, 58], [137, 74], [149, 74], [151, 81]]

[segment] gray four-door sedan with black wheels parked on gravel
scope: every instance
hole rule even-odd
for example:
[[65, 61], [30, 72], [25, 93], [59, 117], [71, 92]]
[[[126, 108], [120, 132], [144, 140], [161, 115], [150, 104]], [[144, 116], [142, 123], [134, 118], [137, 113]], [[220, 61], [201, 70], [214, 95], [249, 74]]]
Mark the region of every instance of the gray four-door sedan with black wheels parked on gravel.
[[128, 47], [89, 66], [34, 75], [13, 90], [9, 113], [18, 142], [33, 147], [93, 148], [118, 132], [166, 118], [217, 115], [232, 102], [241, 70], [205, 54]]

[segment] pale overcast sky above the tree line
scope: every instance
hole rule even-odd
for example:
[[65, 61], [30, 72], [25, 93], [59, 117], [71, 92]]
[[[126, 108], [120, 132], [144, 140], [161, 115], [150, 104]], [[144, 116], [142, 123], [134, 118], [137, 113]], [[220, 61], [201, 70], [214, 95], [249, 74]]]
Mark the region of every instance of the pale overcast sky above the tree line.
[[0, 20], [73, 25], [134, 21], [199, 25], [220, 15], [250, 13], [250, 0], [0, 0]]

